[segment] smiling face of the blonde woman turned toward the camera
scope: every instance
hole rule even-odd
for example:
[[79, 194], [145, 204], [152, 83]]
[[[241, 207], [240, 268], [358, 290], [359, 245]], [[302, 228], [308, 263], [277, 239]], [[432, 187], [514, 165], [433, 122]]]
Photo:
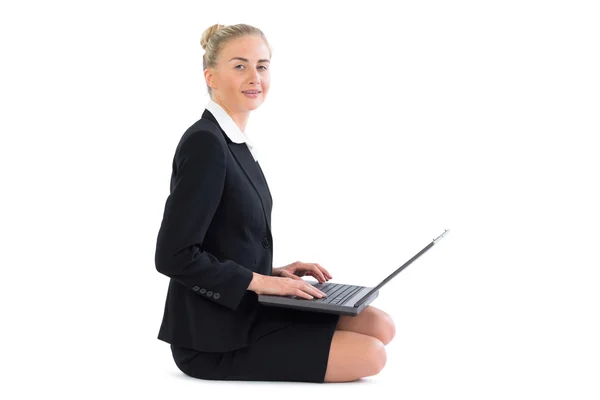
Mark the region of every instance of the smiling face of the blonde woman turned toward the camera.
[[[243, 36], [227, 42], [216, 68], [204, 71], [212, 97], [232, 113], [247, 113], [258, 108], [271, 83], [269, 48], [259, 36]], [[256, 95], [245, 94], [254, 90]]]

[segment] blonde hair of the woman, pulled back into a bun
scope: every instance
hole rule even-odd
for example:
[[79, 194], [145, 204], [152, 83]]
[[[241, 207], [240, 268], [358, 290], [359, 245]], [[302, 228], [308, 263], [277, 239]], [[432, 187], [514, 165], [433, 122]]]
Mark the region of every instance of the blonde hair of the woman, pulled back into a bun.
[[[258, 28], [247, 25], [247, 24], [237, 24], [237, 25], [221, 25], [214, 24], [204, 31], [202, 34], [202, 38], [200, 39], [200, 45], [204, 49], [204, 55], [202, 56], [202, 68], [210, 68], [215, 67], [217, 65], [217, 58], [219, 57], [219, 53], [225, 47], [225, 44], [231, 39], [235, 39], [238, 37], [246, 36], [246, 35], [255, 35], [261, 37], [267, 47], [269, 48], [269, 57], [272, 54], [271, 46], [265, 37], [265, 34]], [[212, 97], [211, 87], [206, 85], [208, 88], [208, 94]]]

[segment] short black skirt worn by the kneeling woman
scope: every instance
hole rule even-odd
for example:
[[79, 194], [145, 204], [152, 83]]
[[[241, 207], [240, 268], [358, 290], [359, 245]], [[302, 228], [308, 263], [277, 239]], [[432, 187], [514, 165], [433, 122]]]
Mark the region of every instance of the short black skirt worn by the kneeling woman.
[[171, 351], [177, 367], [194, 378], [322, 383], [339, 318], [265, 306], [248, 347], [201, 352], [171, 345]]

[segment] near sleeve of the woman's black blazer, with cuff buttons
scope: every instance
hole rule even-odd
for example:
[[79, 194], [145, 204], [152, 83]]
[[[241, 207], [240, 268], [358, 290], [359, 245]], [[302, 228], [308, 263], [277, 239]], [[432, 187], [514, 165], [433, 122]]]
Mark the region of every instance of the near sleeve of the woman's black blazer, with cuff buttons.
[[223, 193], [226, 162], [225, 143], [212, 132], [192, 132], [182, 140], [175, 152], [174, 181], [158, 233], [155, 264], [158, 272], [199, 296], [200, 288], [219, 293], [202, 297], [235, 310], [252, 281], [252, 271], [202, 248]]

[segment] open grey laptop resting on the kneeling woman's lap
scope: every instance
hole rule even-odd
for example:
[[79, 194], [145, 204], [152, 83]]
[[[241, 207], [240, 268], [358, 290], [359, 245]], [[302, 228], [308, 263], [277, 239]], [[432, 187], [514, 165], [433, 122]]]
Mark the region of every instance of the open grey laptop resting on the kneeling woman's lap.
[[442, 240], [450, 230], [445, 229], [444, 232], [433, 239], [431, 243], [415, 254], [410, 260], [405, 262], [397, 270], [392, 272], [390, 276], [385, 278], [375, 287], [366, 287], [358, 285], [344, 285], [340, 283], [324, 282], [310, 283], [320, 291], [326, 294], [323, 298], [305, 299], [303, 297], [288, 295], [278, 296], [270, 294], [258, 295], [258, 301], [265, 306], [295, 308], [299, 310], [316, 311], [330, 314], [351, 315], [360, 314], [366, 306], [368, 306], [379, 295], [379, 289], [388, 283], [393, 277], [398, 275], [400, 271], [408, 267], [413, 261], [419, 258], [423, 253], [429, 250], [434, 244]]

